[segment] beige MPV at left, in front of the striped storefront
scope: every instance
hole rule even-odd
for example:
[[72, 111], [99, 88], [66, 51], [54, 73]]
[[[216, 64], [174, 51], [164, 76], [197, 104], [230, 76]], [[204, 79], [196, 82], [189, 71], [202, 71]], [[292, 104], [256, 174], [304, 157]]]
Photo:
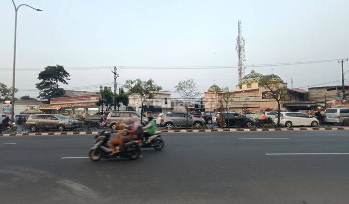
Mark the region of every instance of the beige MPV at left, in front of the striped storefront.
[[58, 129], [59, 131], [63, 131], [65, 129], [74, 129], [79, 125], [78, 122], [78, 120], [74, 121], [69, 116], [36, 114], [28, 117], [26, 126], [30, 128], [32, 132], [39, 129]]

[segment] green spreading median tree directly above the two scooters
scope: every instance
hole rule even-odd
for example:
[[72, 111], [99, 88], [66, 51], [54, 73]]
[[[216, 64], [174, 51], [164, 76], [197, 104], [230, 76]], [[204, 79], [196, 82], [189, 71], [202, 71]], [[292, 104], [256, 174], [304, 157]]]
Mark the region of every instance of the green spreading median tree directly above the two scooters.
[[138, 94], [141, 96], [141, 121], [143, 121], [143, 104], [145, 100], [154, 98], [154, 93], [162, 90], [161, 86], [158, 86], [154, 83], [152, 79], [148, 81], [142, 81], [140, 79], [135, 80], [126, 80], [124, 88], [127, 89], [127, 93], [130, 94]]

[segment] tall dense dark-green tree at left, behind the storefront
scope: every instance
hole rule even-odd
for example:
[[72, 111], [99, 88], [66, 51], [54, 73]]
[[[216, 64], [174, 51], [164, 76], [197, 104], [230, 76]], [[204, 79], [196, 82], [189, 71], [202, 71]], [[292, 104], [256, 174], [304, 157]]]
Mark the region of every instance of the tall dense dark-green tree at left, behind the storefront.
[[39, 73], [40, 83], [36, 84], [36, 88], [40, 90], [38, 98], [47, 99], [62, 97], [64, 89], [59, 88], [59, 83], [67, 85], [67, 80], [70, 80], [69, 73], [65, 71], [61, 65], [47, 66], [44, 71]]

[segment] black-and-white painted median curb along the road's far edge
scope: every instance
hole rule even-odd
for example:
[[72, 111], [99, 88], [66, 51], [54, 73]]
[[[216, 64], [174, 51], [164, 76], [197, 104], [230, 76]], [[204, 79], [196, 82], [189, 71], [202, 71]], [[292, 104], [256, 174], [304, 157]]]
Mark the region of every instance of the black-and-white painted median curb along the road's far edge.
[[[338, 128], [235, 128], [235, 129], [198, 129], [198, 130], [157, 130], [156, 133], [198, 133], [198, 132], [266, 132], [266, 131], [327, 131], [327, 130], [349, 130], [349, 127]], [[0, 134], [0, 136], [53, 136], [53, 135], [89, 135], [98, 134], [100, 132], [62, 132], [62, 133], [25, 133], [25, 134]]]

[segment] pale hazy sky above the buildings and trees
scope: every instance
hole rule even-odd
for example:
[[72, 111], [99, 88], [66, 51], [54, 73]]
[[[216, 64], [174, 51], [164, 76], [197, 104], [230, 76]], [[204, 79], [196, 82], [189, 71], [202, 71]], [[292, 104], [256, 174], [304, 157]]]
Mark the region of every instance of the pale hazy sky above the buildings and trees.
[[[212, 84], [234, 90], [237, 68], [122, 67], [236, 66], [238, 20], [246, 65], [349, 58], [348, 0], [16, 0], [21, 3], [44, 12], [25, 6], [18, 11], [16, 97], [36, 97], [37, 68], [56, 64], [71, 75], [63, 88], [91, 85], [80, 90], [98, 91], [99, 84], [113, 82], [108, 68], [69, 68], [118, 66], [120, 84], [152, 78], [164, 90], [174, 90], [179, 80], [192, 78], [201, 92]], [[11, 0], [1, 0], [0, 8], [0, 82], [12, 86], [15, 10]], [[288, 87], [291, 78], [294, 87], [303, 88], [341, 79], [338, 62], [254, 70], [276, 74]], [[348, 84], [349, 72], [345, 78]]]

